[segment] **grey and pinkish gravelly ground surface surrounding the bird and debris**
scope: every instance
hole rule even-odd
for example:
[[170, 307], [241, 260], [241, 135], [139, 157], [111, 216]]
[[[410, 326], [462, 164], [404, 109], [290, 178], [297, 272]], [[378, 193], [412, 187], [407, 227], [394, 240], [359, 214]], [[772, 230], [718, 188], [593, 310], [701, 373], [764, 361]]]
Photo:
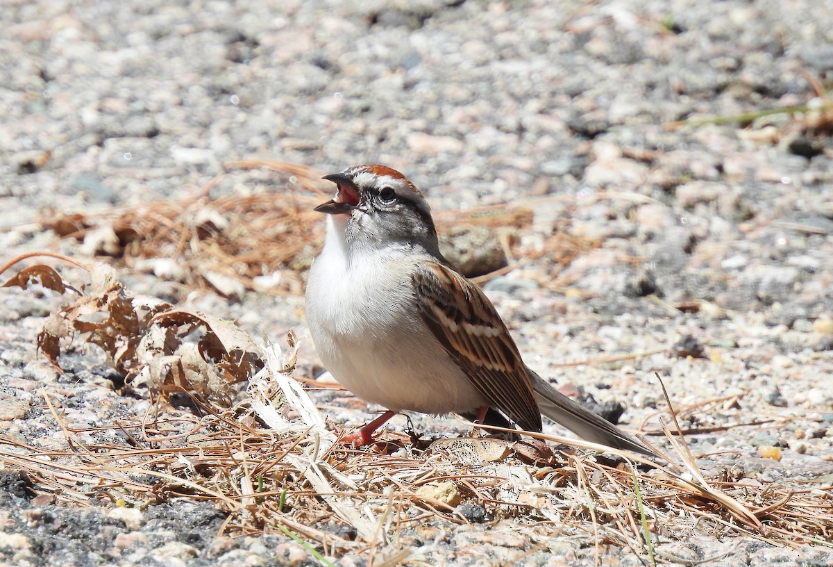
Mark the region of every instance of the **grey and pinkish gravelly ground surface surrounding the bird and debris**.
[[[686, 425], [704, 469], [830, 484], [833, 474], [831, 111], [666, 128], [814, 102], [833, 86], [833, 7], [818, 0], [487, 3], [10, 0], [0, 38], [0, 243], [82, 254], [42, 231], [49, 211], [91, 213], [194, 193], [223, 163], [262, 158], [326, 173], [385, 163], [437, 210], [527, 204], [535, 248], [556, 228], [600, 242], [561, 270], [544, 256], [487, 286], [528, 364], [631, 429], [665, 406], [720, 399]], [[830, 99], [827, 103], [830, 104]], [[229, 173], [213, 196], [270, 187]], [[555, 278], [555, 280], [553, 280]], [[171, 286], [126, 273], [137, 291]], [[136, 414], [100, 354], [67, 372], [34, 347], [60, 299], [0, 295], [0, 435], [65, 446], [42, 391], [79, 423]], [[190, 304], [253, 336], [302, 338], [302, 300], [208, 292]], [[698, 309], [677, 309], [681, 304]], [[572, 367], [611, 354], [625, 363]], [[363, 404], [321, 395], [359, 424]], [[67, 409], [67, 411], [69, 411]], [[85, 422], [85, 420], [87, 420]], [[724, 429], [727, 424], [756, 426]], [[458, 429], [415, 416], [417, 429]], [[394, 419], [403, 428], [404, 419]], [[553, 431], [558, 431], [553, 427]], [[782, 459], [758, 447], [779, 446]], [[827, 479], [827, 480], [825, 480]], [[46, 565], [312, 564], [282, 535], [217, 536], [222, 515], [185, 501], [130, 515], [33, 502], [0, 470], [0, 561]], [[127, 514], [122, 517], [119, 514]], [[486, 537], [488, 535], [488, 538]], [[591, 539], [449, 527], [431, 564], [641, 564]], [[472, 545], [481, 550], [472, 553]], [[540, 546], [539, 546], [540, 544]], [[671, 564], [831, 565], [823, 548], [755, 539], [661, 540]], [[531, 554], [526, 554], [532, 550]], [[674, 559], [678, 558], [678, 559]], [[706, 560], [708, 558], [718, 558]], [[361, 553], [339, 564], [364, 564]], [[687, 562], [687, 563], [686, 563]]]

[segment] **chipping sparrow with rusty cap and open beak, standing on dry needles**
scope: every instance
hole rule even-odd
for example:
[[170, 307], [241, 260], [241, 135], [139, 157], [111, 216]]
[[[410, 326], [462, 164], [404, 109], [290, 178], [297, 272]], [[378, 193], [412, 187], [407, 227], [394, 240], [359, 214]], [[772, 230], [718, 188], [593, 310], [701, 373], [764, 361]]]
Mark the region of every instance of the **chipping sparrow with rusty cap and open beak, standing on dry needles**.
[[491, 301], [442, 257], [428, 203], [402, 173], [360, 165], [325, 179], [338, 189], [316, 208], [328, 216], [307, 282], [312, 341], [339, 383], [388, 409], [349, 442], [369, 443], [402, 410], [482, 423], [497, 409], [522, 429], [541, 431], [542, 413], [589, 441], [651, 454], [526, 367]]

